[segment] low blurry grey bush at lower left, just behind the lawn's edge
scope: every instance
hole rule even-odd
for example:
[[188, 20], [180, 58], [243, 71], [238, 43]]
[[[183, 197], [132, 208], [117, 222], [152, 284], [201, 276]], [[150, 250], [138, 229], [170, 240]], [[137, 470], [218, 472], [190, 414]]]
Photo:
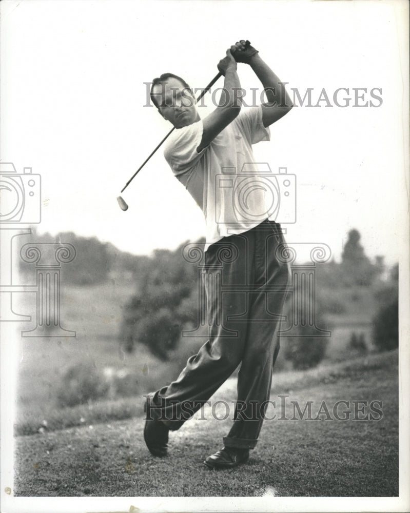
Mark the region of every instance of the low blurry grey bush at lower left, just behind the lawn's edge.
[[105, 397], [109, 384], [92, 364], [77, 364], [64, 374], [57, 389], [58, 406], [75, 406]]

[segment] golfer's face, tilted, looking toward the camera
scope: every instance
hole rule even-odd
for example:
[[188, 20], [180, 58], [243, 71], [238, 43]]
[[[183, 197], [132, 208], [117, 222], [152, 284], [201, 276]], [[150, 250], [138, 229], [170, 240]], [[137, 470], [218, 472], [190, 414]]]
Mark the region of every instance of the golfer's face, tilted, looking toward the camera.
[[161, 114], [175, 128], [186, 127], [200, 120], [195, 98], [178, 78], [166, 78], [165, 83], [155, 85], [152, 92], [156, 95]]

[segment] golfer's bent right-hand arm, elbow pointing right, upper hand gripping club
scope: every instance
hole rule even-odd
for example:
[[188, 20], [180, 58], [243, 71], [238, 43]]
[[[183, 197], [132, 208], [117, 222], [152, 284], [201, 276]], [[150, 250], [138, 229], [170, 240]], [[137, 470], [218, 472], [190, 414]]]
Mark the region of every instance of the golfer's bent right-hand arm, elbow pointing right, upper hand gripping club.
[[250, 46], [245, 49], [245, 41], [243, 40], [236, 44], [233, 56], [237, 62], [249, 64], [262, 82], [267, 98], [267, 103], [262, 104], [263, 126], [267, 127], [280, 120], [289, 112], [293, 104], [279, 77], [262, 60], [255, 48]]

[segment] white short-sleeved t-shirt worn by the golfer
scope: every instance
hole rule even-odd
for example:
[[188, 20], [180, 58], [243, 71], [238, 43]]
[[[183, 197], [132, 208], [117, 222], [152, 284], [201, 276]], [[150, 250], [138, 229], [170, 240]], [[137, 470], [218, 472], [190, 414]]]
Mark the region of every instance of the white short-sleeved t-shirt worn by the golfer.
[[270, 132], [263, 126], [259, 106], [242, 108], [197, 152], [202, 133], [202, 121], [174, 130], [164, 156], [205, 215], [206, 251], [223, 237], [243, 233], [268, 218], [270, 195], [261, 176], [267, 165], [254, 162], [251, 145], [269, 141]]

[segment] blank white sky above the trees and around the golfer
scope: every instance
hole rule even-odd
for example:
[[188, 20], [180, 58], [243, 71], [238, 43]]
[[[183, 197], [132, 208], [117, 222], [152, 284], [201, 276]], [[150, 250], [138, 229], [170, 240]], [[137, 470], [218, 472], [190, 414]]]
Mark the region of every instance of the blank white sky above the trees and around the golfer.
[[[405, 0], [4, 0], [0, 8], [1, 160], [41, 174], [41, 232], [96, 235], [133, 253], [202, 236], [202, 212], [162, 150], [123, 194], [128, 211], [115, 198], [171, 128], [144, 107], [144, 82], [172, 71], [204, 87], [226, 48], [247, 38], [288, 88], [302, 97], [313, 88], [313, 105], [322, 88], [332, 105], [338, 88], [349, 89], [341, 103], [352, 98], [346, 108], [294, 108], [270, 142], [254, 146], [257, 161], [297, 177], [288, 242], [325, 243], [339, 260], [357, 228], [368, 255], [398, 260], [408, 239]], [[238, 69], [243, 87], [259, 86], [246, 65]], [[367, 88], [360, 104], [376, 105], [369, 91], [382, 89], [381, 106], [353, 107], [353, 88]]]

